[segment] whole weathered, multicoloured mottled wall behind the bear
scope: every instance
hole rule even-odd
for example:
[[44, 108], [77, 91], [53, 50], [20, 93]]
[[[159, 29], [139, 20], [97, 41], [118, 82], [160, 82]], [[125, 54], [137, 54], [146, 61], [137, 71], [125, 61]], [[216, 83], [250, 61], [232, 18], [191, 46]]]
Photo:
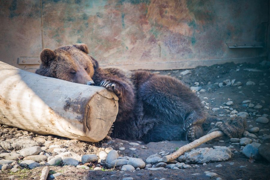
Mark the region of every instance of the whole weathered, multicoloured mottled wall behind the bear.
[[[0, 60], [34, 71], [42, 48], [85, 43], [102, 66], [127, 69], [259, 61], [267, 57], [267, 14], [265, 0], [1, 1]], [[19, 65], [20, 57], [36, 65]]]

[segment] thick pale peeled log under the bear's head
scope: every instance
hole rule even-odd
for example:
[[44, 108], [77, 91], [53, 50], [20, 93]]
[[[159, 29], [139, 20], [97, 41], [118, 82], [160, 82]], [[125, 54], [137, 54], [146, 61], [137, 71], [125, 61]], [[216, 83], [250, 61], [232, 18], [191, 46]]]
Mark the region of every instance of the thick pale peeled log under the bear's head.
[[118, 113], [107, 89], [29, 73], [0, 61], [0, 124], [98, 142]]

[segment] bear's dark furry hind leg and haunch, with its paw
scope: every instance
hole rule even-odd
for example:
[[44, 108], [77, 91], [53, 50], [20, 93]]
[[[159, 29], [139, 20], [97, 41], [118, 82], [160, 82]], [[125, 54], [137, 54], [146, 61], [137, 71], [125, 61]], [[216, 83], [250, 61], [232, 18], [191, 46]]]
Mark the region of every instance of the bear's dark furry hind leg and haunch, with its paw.
[[[205, 121], [205, 114], [200, 100], [179, 80], [169, 76], [152, 76], [140, 87], [139, 95], [144, 104], [145, 114], [155, 117], [157, 121], [157, 125], [149, 131], [149, 134], [159, 132], [158, 136], [166, 138], [170, 136], [170, 140], [187, 138], [189, 141], [202, 135], [200, 125]], [[177, 132], [171, 133], [169, 128]], [[187, 134], [183, 135], [183, 132]]]

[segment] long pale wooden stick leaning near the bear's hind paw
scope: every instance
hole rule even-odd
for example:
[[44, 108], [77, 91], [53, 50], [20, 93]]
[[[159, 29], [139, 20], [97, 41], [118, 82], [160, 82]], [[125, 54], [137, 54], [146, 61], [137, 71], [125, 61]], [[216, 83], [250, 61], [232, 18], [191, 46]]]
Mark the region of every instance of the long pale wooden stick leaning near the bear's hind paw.
[[206, 134], [205, 136], [200, 137], [199, 139], [194, 140], [193, 142], [191, 142], [191, 143], [189, 143], [187, 145], [182, 146], [181, 148], [179, 148], [173, 154], [164, 156], [162, 158], [162, 161], [163, 162], [172, 161], [172, 160], [178, 158], [179, 156], [181, 156], [182, 154], [184, 154], [184, 152], [187, 152], [187, 151], [189, 151], [189, 150], [191, 150], [193, 148], [198, 147], [199, 145], [201, 145], [203, 143], [206, 143], [207, 141], [210, 141], [210, 140], [212, 140], [214, 138], [221, 137], [221, 136], [224, 136], [224, 135], [225, 134], [222, 131], [214, 131], [214, 132], [211, 132], [209, 134]]

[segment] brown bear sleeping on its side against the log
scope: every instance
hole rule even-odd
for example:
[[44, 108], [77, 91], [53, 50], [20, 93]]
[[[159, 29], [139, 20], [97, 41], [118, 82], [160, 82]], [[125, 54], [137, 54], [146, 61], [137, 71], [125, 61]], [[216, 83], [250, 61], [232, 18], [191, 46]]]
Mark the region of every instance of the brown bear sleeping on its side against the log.
[[202, 136], [205, 113], [199, 98], [181, 81], [147, 71], [104, 68], [88, 54], [85, 44], [41, 52], [37, 74], [113, 91], [119, 113], [113, 137], [144, 142], [193, 141]]

